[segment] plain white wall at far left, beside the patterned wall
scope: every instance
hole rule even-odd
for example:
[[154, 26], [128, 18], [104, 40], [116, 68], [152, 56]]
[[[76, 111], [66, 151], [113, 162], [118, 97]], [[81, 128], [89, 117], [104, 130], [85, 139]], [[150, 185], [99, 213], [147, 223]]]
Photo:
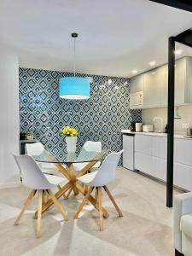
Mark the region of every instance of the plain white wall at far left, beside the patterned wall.
[[12, 153], [19, 153], [19, 64], [0, 45], [0, 189], [20, 185]]

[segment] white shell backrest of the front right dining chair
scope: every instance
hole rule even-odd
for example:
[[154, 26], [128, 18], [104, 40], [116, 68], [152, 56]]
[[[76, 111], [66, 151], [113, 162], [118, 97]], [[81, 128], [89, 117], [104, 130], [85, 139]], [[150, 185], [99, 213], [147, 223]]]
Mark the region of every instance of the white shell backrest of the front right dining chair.
[[90, 182], [91, 186], [102, 187], [113, 181], [119, 158], [122, 153], [123, 150], [117, 153], [108, 154], [105, 160], [103, 160], [102, 166], [99, 168], [96, 177]]

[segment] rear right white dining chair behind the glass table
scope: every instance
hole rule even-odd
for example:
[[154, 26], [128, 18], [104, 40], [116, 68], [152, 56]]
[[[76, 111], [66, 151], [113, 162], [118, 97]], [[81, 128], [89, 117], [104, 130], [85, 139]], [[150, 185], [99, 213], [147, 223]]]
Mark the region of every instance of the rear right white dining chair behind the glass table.
[[[101, 142], [92, 142], [92, 141], [87, 141], [86, 143], [84, 143], [84, 146], [82, 148], [85, 151], [89, 151], [89, 152], [101, 152], [102, 151], [102, 143]], [[81, 153], [80, 153], [81, 154]], [[80, 154], [78, 159], [80, 158]], [[74, 171], [79, 172], [81, 171], [84, 166], [86, 166], [88, 163], [86, 162], [82, 162], [82, 163], [74, 163], [73, 164], [73, 168]], [[94, 166], [92, 166], [92, 168], [98, 168], [101, 165], [101, 161], [96, 162], [96, 164]]]

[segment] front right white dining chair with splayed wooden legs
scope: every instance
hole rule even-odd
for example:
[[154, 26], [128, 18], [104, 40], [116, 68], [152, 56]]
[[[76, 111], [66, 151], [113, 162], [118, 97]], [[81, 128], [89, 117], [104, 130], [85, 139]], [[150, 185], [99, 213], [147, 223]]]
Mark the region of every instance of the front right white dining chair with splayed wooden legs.
[[79, 213], [82, 211], [84, 204], [89, 199], [90, 194], [94, 189], [96, 189], [96, 204], [98, 205], [99, 210], [99, 229], [103, 230], [103, 218], [102, 218], [102, 188], [108, 194], [109, 199], [112, 201], [113, 206], [119, 213], [119, 217], [123, 217], [122, 212], [120, 212], [119, 207], [113, 199], [113, 196], [108, 190], [108, 183], [111, 183], [115, 178], [115, 171], [119, 162], [120, 155], [123, 153], [123, 150], [118, 153], [111, 153], [105, 158], [102, 162], [102, 166], [100, 166], [99, 170], [96, 172], [90, 172], [85, 174], [82, 177], [78, 177], [78, 181], [88, 185], [90, 189], [88, 189], [86, 195], [84, 196], [84, 200], [79, 205], [77, 212], [74, 215], [74, 218], [79, 217]]

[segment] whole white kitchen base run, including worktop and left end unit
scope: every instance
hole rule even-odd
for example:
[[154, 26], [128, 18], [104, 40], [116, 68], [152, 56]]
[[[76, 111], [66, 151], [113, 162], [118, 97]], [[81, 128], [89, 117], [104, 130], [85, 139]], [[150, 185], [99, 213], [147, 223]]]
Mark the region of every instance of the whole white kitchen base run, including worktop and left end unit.
[[[123, 166], [166, 182], [167, 134], [122, 130]], [[175, 135], [175, 186], [192, 191], [192, 138]]]

